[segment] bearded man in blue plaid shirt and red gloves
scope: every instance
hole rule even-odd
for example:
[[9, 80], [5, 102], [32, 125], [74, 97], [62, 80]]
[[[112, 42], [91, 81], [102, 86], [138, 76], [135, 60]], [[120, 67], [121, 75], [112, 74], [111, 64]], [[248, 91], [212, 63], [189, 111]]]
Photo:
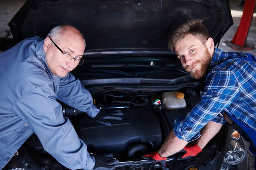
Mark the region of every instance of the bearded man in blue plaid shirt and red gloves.
[[[223, 115], [238, 125], [255, 155], [256, 59], [249, 53], [226, 53], [215, 48], [202, 22], [187, 21], [173, 32], [168, 42], [193, 78], [204, 77], [201, 100], [185, 118], [175, 120], [164, 144], [157, 152], [144, 155], [146, 159], [166, 160], [182, 148], [186, 151], [183, 159], [196, 156], [227, 122]], [[194, 140], [194, 144], [189, 144]]]

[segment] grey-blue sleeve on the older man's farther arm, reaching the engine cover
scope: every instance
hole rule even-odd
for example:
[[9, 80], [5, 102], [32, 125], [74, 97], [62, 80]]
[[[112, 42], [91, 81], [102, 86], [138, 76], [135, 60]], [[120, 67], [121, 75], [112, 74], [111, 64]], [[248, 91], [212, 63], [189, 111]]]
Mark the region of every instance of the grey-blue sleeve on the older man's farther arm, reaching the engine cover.
[[99, 108], [93, 104], [93, 99], [88, 90], [86, 90], [79, 79], [68, 73], [61, 78], [57, 99], [61, 102], [83, 111], [90, 117], [95, 117], [99, 113]]

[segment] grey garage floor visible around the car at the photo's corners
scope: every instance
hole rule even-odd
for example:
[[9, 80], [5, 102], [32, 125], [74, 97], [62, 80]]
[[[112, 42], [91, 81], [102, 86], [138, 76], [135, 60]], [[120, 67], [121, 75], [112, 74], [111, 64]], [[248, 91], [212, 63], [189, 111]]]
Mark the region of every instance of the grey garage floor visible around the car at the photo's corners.
[[[9, 26], [7, 24], [25, 2], [26, 0], [0, 0], [0, 37], [11, 37]], [[226, 52], [235, 51], [231, 49], [231, 47], [227, 46], [226, 42], [229, 42], [233, 39], [240, 23], [241, 16], [243, 14], [243, 8], [238, 7], [238, 4], [240, 4], [240, 0], [229, 0], [229, 2], [234, 25], [232, 25], [227, 33], [225, 33], [218, 46], [219, 49], [222, 49]], [[256, 56], [256, 13], [254, 13], [254, 18], [252, 19], [252, 24], [249, 30], [249, 34], [247, 36], [247, 44], [252, 44], [252, 46], [254, 46], [254, 49], [236, 51], [251, 53]], [[252, 156], [252, 154], [250, 154], [249, 160], [250, 170], [254, 170], [254, 157]]]

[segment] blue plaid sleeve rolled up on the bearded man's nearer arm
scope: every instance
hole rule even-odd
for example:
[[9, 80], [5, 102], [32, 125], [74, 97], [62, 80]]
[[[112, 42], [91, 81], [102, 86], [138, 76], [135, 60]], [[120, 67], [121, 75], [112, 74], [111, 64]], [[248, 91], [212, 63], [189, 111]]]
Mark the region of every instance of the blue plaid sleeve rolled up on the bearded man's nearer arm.
[[239, 95], [236, 77], [230, 71], [220, 70], [209, 75], [201, 100], [184, 119], [176, 119], [175, 135], [184, 141], [200, 137], [200, 130], [211, 120], [225, 123], [218, 114]]

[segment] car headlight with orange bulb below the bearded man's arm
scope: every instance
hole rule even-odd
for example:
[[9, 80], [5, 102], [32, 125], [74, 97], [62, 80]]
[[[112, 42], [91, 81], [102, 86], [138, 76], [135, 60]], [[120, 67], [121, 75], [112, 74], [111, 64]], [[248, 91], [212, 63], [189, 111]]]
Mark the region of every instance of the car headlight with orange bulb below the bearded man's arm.
[[228, 170], [229, 165], [236, 165], [245, 158], [246, 152], [243, 148], [242, 139], [237, 131], [231, 134], [228, 151], [225, 154], [220, 170]]

